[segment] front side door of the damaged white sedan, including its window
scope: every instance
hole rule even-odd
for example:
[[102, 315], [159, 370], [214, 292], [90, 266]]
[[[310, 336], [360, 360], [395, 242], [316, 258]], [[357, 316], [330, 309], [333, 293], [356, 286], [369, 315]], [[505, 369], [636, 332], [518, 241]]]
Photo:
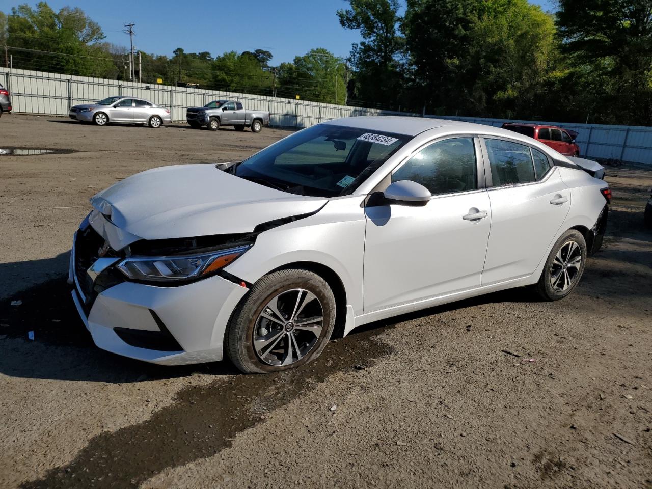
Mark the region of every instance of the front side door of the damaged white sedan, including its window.
[[391, 179], [421, 183], [431, 200], [365, 209], [365, 313], [480, 286], [491, 209], [477, 148], [470, 136], [427, 145]]

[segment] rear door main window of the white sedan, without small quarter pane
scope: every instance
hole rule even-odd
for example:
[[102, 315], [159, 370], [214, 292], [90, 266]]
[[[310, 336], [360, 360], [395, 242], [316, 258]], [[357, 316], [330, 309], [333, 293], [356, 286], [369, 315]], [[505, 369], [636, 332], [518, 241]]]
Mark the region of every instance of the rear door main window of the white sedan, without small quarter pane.
[[494, 186], [536, 181], [529, 146], [503, 140], [484, 140]]

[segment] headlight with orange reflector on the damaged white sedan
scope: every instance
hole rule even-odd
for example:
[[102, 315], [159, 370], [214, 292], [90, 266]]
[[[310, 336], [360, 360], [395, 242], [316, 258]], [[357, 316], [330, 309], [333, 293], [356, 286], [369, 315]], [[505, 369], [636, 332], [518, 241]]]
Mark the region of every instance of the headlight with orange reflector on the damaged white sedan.
[[251, 246], [237, 246], [183, 256], [134, 256], [118, 263], [117, 269], [132, 280], [173, 282], [209, 276], [229, 265]]

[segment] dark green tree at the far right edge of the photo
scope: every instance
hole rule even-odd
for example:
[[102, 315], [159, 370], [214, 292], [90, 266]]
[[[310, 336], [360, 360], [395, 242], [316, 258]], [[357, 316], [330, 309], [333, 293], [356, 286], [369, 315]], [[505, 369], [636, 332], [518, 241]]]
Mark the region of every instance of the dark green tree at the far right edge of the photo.
[[652, 1], [559, 1], [561, 50], [574, 104], [603, 123], [652, 124]]

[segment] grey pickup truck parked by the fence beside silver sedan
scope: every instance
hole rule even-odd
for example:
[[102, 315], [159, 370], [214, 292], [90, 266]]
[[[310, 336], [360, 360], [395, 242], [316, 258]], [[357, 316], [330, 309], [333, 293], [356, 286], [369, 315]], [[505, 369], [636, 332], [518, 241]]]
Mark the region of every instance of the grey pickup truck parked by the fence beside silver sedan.
[[186, 110], [186, 121], [190, 127], [216, 131], [220, 126], [235, 126], [235, 130], [250, 127], [252, 132], [260, 132], [263, 126], [269, 126], [269, 112], [264, 110], [244, 110], [241, 102], [231, 100], [213, 100], [203, 107], [191, 107]]

